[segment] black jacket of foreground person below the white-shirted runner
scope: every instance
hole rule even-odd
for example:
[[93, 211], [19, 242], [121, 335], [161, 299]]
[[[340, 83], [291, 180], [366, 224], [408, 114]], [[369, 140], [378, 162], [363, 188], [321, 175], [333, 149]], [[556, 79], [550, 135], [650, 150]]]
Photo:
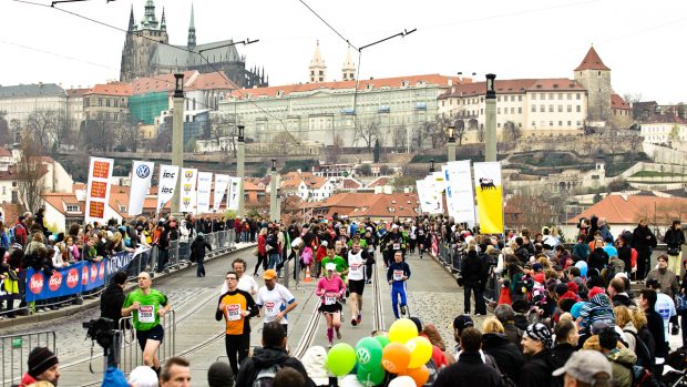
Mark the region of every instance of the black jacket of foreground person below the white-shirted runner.
[[279, 365], [280, 367], [290, 367], [296, 369], [306, 378], [309, 387], [315, 387], [315, 383], [308, 377], [303, 363], [295, 357], [288, 356], [284, 348], [255, 348], [253, 357], [244, 360], [238, 369], [236, 377], [236, 387], [252, 387], [255, 378], [262, 369]]

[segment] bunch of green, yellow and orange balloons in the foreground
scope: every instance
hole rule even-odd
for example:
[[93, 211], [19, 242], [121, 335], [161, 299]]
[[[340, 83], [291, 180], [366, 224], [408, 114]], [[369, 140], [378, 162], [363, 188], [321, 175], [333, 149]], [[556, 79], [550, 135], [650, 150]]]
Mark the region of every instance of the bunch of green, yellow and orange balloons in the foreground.
[[365, 337], [356, 348], [339, 343], [329, 349], [327, 369], [336, 376], [349, 374], [357, 365], [358, 380], [366, 387], [380, 385], [386, 373], [409, 376], [418, 387], [429, 379], [425, 364], [432, 357], [432, 344], [418, 336], [416, 324], [401, 318], [389, 329], [389, 337]]

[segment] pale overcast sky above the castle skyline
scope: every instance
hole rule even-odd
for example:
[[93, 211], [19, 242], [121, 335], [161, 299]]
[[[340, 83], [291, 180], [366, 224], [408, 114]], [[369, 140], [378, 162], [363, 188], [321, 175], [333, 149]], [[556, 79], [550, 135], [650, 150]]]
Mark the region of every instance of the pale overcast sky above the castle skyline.
[[[31, 0], [50, 4], [49, 0]], [[498, 79], [572, 78], [593, 43], [621, 95], [659, 103], [687, 101], [687, 1], [659, 0], [307, 0], [356, 47], [417, 28], [362, 51], [361, 79], [494, 72]], [[59, 4], [126, 29], [145, 0]], [[306, 82], [320, 41], [328, 80], [341, 79], [347, 44], [299, 0], [195, 0], [198, 44], [259, 39], [238, 47], [246, 67], [265, 67], [271, 85]], [[156, 0], [170, 42], [185, 44], [188, 0]], [[61, 12], [0, 0], [0, 84], [55, 82], [90, 86], [119, 79], [124, 32]], [[356, 63], [358, 58], [355, 58]]]

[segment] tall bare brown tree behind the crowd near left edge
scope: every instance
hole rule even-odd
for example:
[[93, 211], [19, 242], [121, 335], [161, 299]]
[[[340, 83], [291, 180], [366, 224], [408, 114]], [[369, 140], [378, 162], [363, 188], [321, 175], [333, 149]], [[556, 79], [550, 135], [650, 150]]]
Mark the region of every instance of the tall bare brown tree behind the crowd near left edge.
[[43, 167], [40, 156], [40, 142], [29, 133], [23, 135], [21, 155], [17, 162], [17, 185], [19, 201], [29, 211], [37, 211], [41, 205]]

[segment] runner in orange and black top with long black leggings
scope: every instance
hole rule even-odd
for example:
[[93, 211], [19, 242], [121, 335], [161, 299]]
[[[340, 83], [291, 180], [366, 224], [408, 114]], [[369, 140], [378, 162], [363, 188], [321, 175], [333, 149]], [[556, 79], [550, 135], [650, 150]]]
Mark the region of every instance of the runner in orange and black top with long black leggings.
[[256, 307], [250, 294], [238, 288], [236, 272], [227, 272], [225, 281], [228, 291], [219, 296], [215, 319], [221, 320], [224, 316], [226, 322], [224, 343], [227, 357], [234, 375], [238, 375], [238, 365], [248, 357], [248, 348], [250, 348], [249, 318], [260, 310]]

